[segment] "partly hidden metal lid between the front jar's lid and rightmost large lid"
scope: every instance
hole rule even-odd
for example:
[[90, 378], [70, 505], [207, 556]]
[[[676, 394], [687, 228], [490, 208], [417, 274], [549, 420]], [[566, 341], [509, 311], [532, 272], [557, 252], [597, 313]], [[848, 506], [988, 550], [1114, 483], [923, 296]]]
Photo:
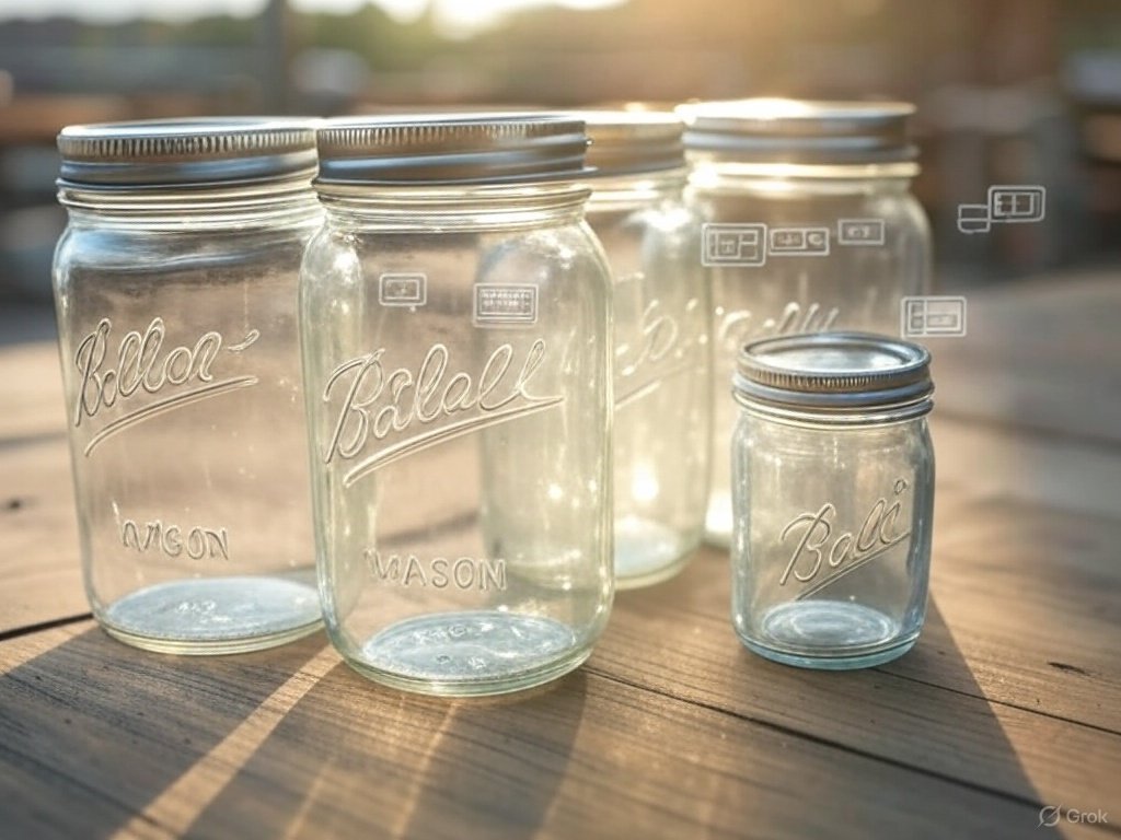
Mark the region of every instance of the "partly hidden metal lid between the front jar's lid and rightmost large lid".
[[587, 165], [596, 177], [637, 175], [685, 166], [684, 123], [665, 111], [583, 111], [592, 141]]

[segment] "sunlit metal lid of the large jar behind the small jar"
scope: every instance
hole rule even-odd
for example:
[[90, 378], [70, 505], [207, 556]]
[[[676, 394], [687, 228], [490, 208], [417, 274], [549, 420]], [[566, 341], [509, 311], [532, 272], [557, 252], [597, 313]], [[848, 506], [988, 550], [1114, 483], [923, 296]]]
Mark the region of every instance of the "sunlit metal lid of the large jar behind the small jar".
[[685, 148], [742, 162], [892, 164], [914, 160], [907, 102], [748, 99], [678, 108]]

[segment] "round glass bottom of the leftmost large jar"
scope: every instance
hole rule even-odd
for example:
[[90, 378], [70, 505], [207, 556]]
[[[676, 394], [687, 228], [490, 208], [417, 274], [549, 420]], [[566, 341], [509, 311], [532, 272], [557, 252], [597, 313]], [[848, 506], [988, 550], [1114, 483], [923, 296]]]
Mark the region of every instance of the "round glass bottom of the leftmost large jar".
[[135, 647], [197, 655], [259, 651], [322, 625], [315, 586], [279, 576], [158, 584], [113, 601], [98, 618]]

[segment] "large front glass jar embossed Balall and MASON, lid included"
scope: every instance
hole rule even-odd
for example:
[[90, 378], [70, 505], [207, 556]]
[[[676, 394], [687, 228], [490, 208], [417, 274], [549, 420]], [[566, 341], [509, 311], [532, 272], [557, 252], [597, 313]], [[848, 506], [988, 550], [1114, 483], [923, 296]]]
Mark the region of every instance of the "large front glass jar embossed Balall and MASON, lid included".
[[300, 324], [319, 591], [360, 673], [492, 694], [612, 599], [609, 269], [580, 120], [328, 122]]

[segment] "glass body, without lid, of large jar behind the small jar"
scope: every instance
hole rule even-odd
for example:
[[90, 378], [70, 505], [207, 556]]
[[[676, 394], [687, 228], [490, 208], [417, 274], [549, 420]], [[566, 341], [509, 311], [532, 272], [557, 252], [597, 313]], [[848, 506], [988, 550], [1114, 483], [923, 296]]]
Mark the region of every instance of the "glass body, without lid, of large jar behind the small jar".
[[929, 293], [929, 226], [899, 168], [694, 167], [717, 384], [705, 525], [715, 544], [729, 544], [732, 525], [725, 452], [735, 408], [724, 383], [739, 348], [794, 333], [898, 335], [902, 298]]

